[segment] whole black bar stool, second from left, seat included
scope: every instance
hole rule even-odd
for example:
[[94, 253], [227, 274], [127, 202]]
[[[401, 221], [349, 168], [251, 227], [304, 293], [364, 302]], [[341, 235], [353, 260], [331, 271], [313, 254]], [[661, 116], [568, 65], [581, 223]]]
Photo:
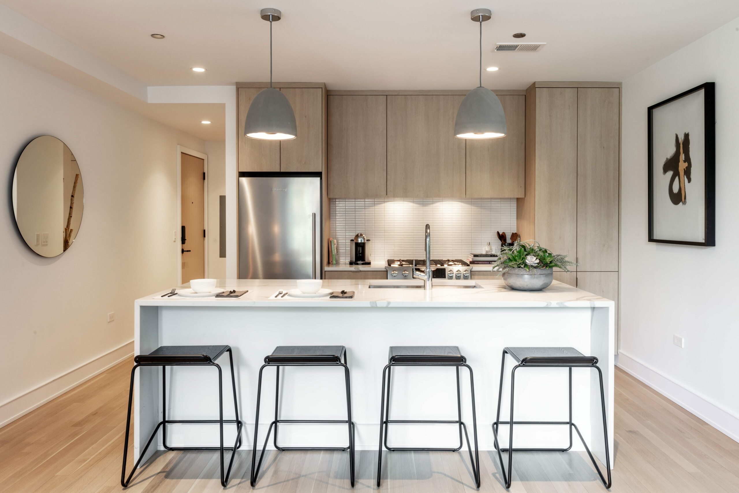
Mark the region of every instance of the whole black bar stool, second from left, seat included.
[[[343, 359], [343, 362], [342, 362]], [[256, 463], [256, 432], [259, 427], [259, 405], [262, 398], [262, 372], [267, 367], [275, 367], [275, 418], [267, 429], [265, 444], [262, 446], [262, 455], [259, 463]], [[280, 419], [279, 418], [279, 367], [343, 367], [344, 381], [347, 392], [347, 419], [345, 420], [307, 420], [307, 419]], [[311, 424], [346, 424], [349, 430], [349, 446], [346, 447], [281, 447], [277, 445], [277, 429], [282, 423], [311, 423]], [[254, 446], [251, 455], [251, 486], [256, 486], [256, 478], [259, 476], [259, 468], [262, 459], [265, 458], [265, 449], [270, 439], [270, 433], [274, 427], [274, 447], [277, 450], [348, 450], [349, 451], [349, 475], [352, 488], [354, 487], [354, 429], [352, 421], [352, 398], [349, 380], [349, 367], [347, 366], [347, 348], [344, 346], [278, 346], [269, 356], [265, 357], [265, 364], [259, 369], [259, 384], [256, 389], [256, 418], [254, 418]], [[255, 466], [256, 464], [256, 466]]]

